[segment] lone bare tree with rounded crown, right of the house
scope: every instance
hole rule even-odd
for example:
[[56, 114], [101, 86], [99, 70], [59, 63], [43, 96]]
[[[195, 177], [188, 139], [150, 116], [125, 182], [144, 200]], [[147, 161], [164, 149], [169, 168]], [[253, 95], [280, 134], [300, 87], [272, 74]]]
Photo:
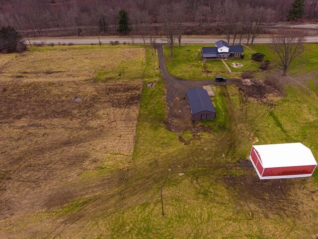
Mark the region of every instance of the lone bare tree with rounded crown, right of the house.
[[293, 30], [284, 31], [280, 36], [271, 39], [273, 50], [278, 55], [279, 64], [283, 68], [283, 76], [286, 76], [292, 61], [304, 51], [304, 40], [305, 37], [300, 32]]

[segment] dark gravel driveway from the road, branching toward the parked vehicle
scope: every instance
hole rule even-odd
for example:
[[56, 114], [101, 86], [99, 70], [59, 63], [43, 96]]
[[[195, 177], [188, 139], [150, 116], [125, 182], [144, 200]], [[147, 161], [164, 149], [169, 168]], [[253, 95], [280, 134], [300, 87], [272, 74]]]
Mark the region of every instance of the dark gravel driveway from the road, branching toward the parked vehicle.
[[171, 76], [165, 67], [162, 43], [158, 44], [158, 58], [161, 76], [166, 84], [166, 110], [167, 110], [167, 128], [173, 132], [183, 132], [185, 130], [195, 130], [199, 126], [191, 120], [190, 109], [185, 93], [194, 87], [204, 85], [227, 85], [234, 84], [236, 79], [228, 79], [226, 82], [209, 81], [190, 81]]

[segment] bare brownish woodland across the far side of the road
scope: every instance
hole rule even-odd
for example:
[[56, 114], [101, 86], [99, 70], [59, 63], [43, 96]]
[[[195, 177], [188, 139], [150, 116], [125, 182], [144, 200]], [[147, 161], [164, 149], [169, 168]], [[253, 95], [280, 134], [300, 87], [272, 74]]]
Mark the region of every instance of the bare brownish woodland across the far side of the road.
[[115, 35], [121, 9], [130, 34], [168, 35], [172, 27], [179, 42], [181, 34], [225, 34], [229, 42], [244, 34], [252, 43], [263, 23], [318, 18], [318, 0], [1, 0], [0, 25], [24, 36]]

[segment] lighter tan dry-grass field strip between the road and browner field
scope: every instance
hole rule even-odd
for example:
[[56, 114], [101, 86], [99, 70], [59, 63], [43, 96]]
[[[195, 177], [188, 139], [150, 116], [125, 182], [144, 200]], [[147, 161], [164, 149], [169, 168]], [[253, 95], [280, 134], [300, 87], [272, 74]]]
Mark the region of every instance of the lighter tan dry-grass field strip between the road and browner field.
[[0, 55], [1, 81], [78, 81], [125, 62], [144, 62], [144, 48], [54, 48]]

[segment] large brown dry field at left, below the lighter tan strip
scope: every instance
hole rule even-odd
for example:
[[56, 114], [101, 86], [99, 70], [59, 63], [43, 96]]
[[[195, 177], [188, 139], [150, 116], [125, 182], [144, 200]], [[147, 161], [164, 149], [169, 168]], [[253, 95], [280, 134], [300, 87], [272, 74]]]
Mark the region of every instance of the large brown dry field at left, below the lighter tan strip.
[[142, 86], [0, 83], [0, 223], [110, 188], [94, 175], [130, 164]]

